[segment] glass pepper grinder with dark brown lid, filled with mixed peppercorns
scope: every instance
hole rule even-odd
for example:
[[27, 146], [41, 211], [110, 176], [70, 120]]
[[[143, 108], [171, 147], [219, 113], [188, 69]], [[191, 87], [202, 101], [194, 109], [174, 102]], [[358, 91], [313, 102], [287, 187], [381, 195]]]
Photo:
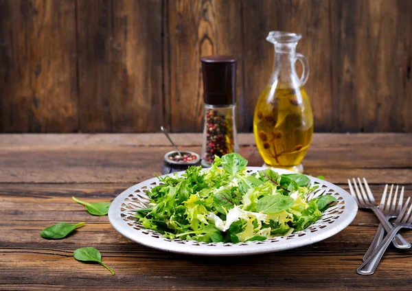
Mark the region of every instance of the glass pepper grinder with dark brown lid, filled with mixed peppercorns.
[[236, 132], [236, 58], [201, 58], [204, 89], [202, 165], [210, 167], [214, 157], [238, 152]]

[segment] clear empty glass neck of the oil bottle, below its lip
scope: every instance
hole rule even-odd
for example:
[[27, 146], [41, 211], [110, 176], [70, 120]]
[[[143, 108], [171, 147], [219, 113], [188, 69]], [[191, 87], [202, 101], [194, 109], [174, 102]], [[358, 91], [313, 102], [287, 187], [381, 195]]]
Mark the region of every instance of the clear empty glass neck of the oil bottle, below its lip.
[[297, 43], [275, 43], [271, 83], [277, 81], [281, 87], [300, 86], [295, 69], [296, 46]]

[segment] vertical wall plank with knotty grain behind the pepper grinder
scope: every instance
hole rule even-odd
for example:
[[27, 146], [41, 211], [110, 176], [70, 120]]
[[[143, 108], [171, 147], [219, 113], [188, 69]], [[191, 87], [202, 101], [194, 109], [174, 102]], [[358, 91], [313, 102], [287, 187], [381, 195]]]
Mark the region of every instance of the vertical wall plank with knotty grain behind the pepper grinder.
[[[201, 57], [227, 54], [238, 58], [237, 95], [242, 96], [242, 19], [241, 2], [168, 2], [170, 43], [170, 129], [174, 132], [199, 132], [203, 128], [203, 79]], [[239, 119], [244, 130], [243, 117]]]

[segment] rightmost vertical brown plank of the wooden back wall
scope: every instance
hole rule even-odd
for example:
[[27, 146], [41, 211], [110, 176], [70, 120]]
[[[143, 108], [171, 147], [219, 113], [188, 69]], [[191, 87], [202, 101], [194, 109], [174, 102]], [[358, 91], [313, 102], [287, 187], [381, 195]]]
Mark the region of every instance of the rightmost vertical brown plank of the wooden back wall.
[[412, 2], [331, 4], [334, 130], [408, 131]]

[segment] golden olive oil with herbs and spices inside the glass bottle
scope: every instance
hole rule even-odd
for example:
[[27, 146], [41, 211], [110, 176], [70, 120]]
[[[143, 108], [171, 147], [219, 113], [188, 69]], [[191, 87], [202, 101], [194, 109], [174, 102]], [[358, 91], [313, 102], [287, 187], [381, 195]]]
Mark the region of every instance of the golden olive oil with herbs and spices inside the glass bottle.
[[271, 86], [266, 87], [255, 107], [253, 132], [266, 165], [299, 165], [313, 133], [313, 115], [305, 89], [275, 89], [271, 94]]

